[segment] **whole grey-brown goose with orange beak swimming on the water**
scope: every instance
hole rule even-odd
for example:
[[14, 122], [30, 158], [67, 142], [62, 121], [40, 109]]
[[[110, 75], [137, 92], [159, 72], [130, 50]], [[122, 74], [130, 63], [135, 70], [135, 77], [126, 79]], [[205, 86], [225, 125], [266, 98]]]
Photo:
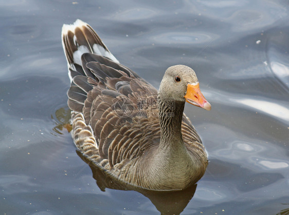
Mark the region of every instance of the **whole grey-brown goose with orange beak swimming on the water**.
[[182, 190], [208, 165], [185, 102], [211, 109], [194, 70], [169, 67], [159, 91], [121, 65], [87, 23], [63, 25], [67, 92], [78, 150], [110, 177], [151, 190]]

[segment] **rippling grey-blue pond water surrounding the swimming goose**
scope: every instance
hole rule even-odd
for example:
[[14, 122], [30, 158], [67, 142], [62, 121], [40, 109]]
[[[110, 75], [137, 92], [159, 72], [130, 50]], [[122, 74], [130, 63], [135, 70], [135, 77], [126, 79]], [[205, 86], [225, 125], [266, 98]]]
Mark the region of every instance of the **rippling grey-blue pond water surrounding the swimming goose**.
[[[288, 214], [288, 10], [263, 0], [2, 1], [0, 213], [166, 214], [175, 204], [182, 214]], [[188, 193], [102, 191], [76, 153], [60, 35], [77, 18], [156, 88], [169, 66], [196, 71], [212, 110], [185, 112], [209, 166]]]

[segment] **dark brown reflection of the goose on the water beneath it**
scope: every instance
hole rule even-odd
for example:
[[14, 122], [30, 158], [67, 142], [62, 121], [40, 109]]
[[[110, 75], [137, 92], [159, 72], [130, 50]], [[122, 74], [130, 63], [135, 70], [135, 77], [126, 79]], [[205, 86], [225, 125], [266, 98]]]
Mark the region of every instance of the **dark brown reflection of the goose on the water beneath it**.
[[105, 188], [117, 190], [135, 190], [148, 197], [161, 214], [179, 214], [188, 205], [196, 190], [196, 184], [181, 191], [154, 191], [133, 186], [124, 182], [116, 181], [104, 173], [103, 170], [87, 160], [80, 151], [78, 156], [91, 167], [93, 178], [98, 187], [105, 191]]

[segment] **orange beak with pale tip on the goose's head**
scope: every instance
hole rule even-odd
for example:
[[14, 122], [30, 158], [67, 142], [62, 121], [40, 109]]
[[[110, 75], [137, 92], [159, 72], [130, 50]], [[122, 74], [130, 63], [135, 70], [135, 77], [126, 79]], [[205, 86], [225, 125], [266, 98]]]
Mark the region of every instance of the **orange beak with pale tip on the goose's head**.
[[196, 85], [188, 84], [187, 93], [184, 97], [186, 102], [192, 105], [204, 108], [205, 110], [211, 110], [211, 105], [202, 94], [198, 83]]

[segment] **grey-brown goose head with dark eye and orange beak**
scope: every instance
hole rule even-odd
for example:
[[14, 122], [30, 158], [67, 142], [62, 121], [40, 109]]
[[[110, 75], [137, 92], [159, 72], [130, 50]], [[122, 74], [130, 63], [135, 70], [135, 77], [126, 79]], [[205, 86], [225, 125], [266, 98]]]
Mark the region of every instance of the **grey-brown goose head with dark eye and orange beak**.
[[210, 103], [200, 90], [194, 70], [185, 65], [171, 66], [166, 70], [159, 86], [158, 96], [161, 99], [170, 98], [211, 110]]

